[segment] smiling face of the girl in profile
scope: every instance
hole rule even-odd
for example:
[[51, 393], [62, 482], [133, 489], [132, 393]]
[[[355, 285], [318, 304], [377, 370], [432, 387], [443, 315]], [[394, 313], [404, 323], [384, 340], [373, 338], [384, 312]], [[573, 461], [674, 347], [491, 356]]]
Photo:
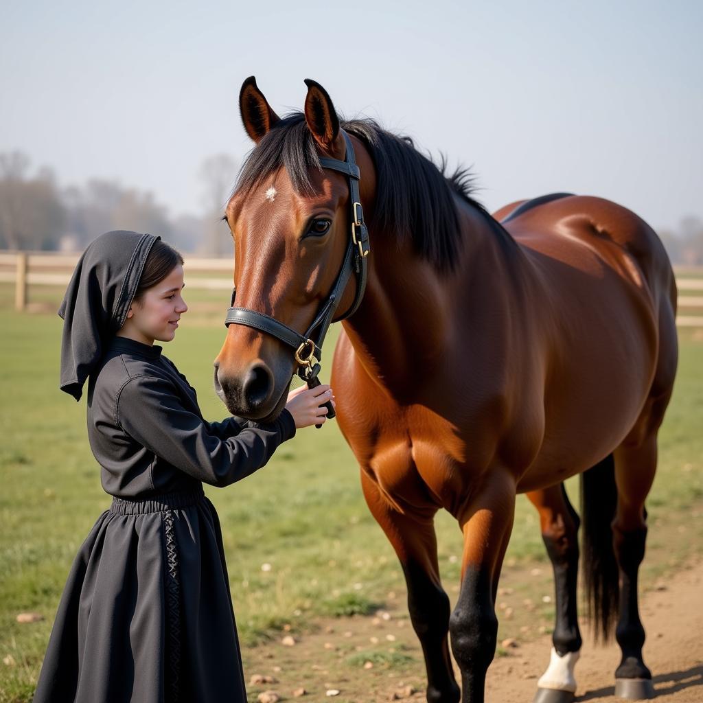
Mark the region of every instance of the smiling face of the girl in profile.
[[182, 295], [185, 285], [183, 266], [179, 264], [160, 283], [148, 288], [141, 300], [131, 304], [120, 334], [144, 344], [170, 342], [181, 315], [188, 310]]

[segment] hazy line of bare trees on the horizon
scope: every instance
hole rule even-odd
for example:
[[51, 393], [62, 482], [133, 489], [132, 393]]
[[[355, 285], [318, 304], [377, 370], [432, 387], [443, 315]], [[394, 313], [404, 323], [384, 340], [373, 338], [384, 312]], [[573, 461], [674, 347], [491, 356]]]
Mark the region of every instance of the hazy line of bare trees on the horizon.
[[[220, 221], [237, 164], [227, 154], [208, 157], [200, 167], [205, 193], [200, 215], [169, 217], [148, 192], [116, 181], [90, 179], [84, 186], [60, 188], [50, 169], [30, 172], [21, 152], [0, 153], [0, 248], [82, 250], [112, 229], [150, 232], [204, 256], [228, 256], [231, 240]], [[684, 217], [678, 228], [659, 231], [673, 264], [703, 266], [703, 221]]]

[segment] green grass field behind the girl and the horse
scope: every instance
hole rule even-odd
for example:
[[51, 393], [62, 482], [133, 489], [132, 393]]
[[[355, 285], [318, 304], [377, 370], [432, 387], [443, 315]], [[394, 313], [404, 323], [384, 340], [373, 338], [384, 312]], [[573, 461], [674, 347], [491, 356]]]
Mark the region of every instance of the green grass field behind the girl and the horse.
[[[61, 321], [48, 312], [56, 309], [56, 291], [43, 290], [34, 299], [35, 314], [12, 311], [11, 292], [0, 288], [0, 703], [31, 699], [72, 559], [110, 503], [86, 440], [85, 401], [77, 404], [58, 390]], [[226, 414], [212, 392], [211, 363], [224, 340], [227, 298], [193, 292], [191, 312], [176, 342], [165, 348], [212, 420]], [[324, 378], [335, 333], [326, 344]], [[645, 587], [701, 554], [702, 419], [703, 334], [683, 330], [676, 392], [647, 505]], [[572, 480], [574, 501], [576, 490]], [[392, 549], [366, 509], [354, 458], [333, 422], [299, 431], [256, 475], [207, 494], [221, 518], [245, 647], [265, 643], [284, 627], [310, 631], [325, 617], [373, 612], [387, 604], [389, 592], [399, 598], [404, 593]], [[443, 579], [455, 598], [460, 533], [444, 514], [437, 530]], [[262, 570], [264, 564], [270, 570]], [[540, 569], [532, 570], [541, 576], [523, 582], [521, 575], [536, 564]], [[501, 636], [510, 636], [525, 618], [548, 623], [553, 606], [540, 598], [550, 593], [548, 565], [536, 512], [522, 497], [504, 573], [520, 598], [531, 598], [536, 607], [501, 621]], [[26, 611], [44, 619], [18, 624], [16, 615]]]

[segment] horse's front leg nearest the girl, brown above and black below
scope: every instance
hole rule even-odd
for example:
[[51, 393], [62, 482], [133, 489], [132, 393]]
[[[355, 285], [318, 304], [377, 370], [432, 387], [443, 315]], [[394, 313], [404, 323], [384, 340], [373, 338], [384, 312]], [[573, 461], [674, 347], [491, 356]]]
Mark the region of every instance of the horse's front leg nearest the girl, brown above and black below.
[[408, 611], [427, 668], [427, 703], [458, 703], [459, 687], [449, 657], [449, 597], [439, 580], [433, 515], [401, 513], [361, 472], [366, 503], [392, 544], [408, 586]]

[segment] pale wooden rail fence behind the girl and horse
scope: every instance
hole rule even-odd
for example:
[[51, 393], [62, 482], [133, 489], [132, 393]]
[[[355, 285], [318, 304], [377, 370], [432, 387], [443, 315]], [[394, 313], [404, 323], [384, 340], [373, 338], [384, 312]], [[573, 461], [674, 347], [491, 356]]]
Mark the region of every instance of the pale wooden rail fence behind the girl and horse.
[[[25, 310], [30, 285], [66, 286], [78, 261], [79, 254], [49, 254], [47, 252], [6, 252], [0, 254], [0, 283], [15, 284], [15, 308]], [[198, 259], [188, 257], [183, 268], [188, 273], [188, 288], [200, 290], [231, 290], [231, 259]], [[207, 273], [209, 276], [193, 276]], [[213, 273], [221, 273], [212, 276]], [[678, 285], [678, 316], [680, 327], [703, 327], [703, 268], [676, 270]], [[688, 311], [695, 314], [687, 314]]]

